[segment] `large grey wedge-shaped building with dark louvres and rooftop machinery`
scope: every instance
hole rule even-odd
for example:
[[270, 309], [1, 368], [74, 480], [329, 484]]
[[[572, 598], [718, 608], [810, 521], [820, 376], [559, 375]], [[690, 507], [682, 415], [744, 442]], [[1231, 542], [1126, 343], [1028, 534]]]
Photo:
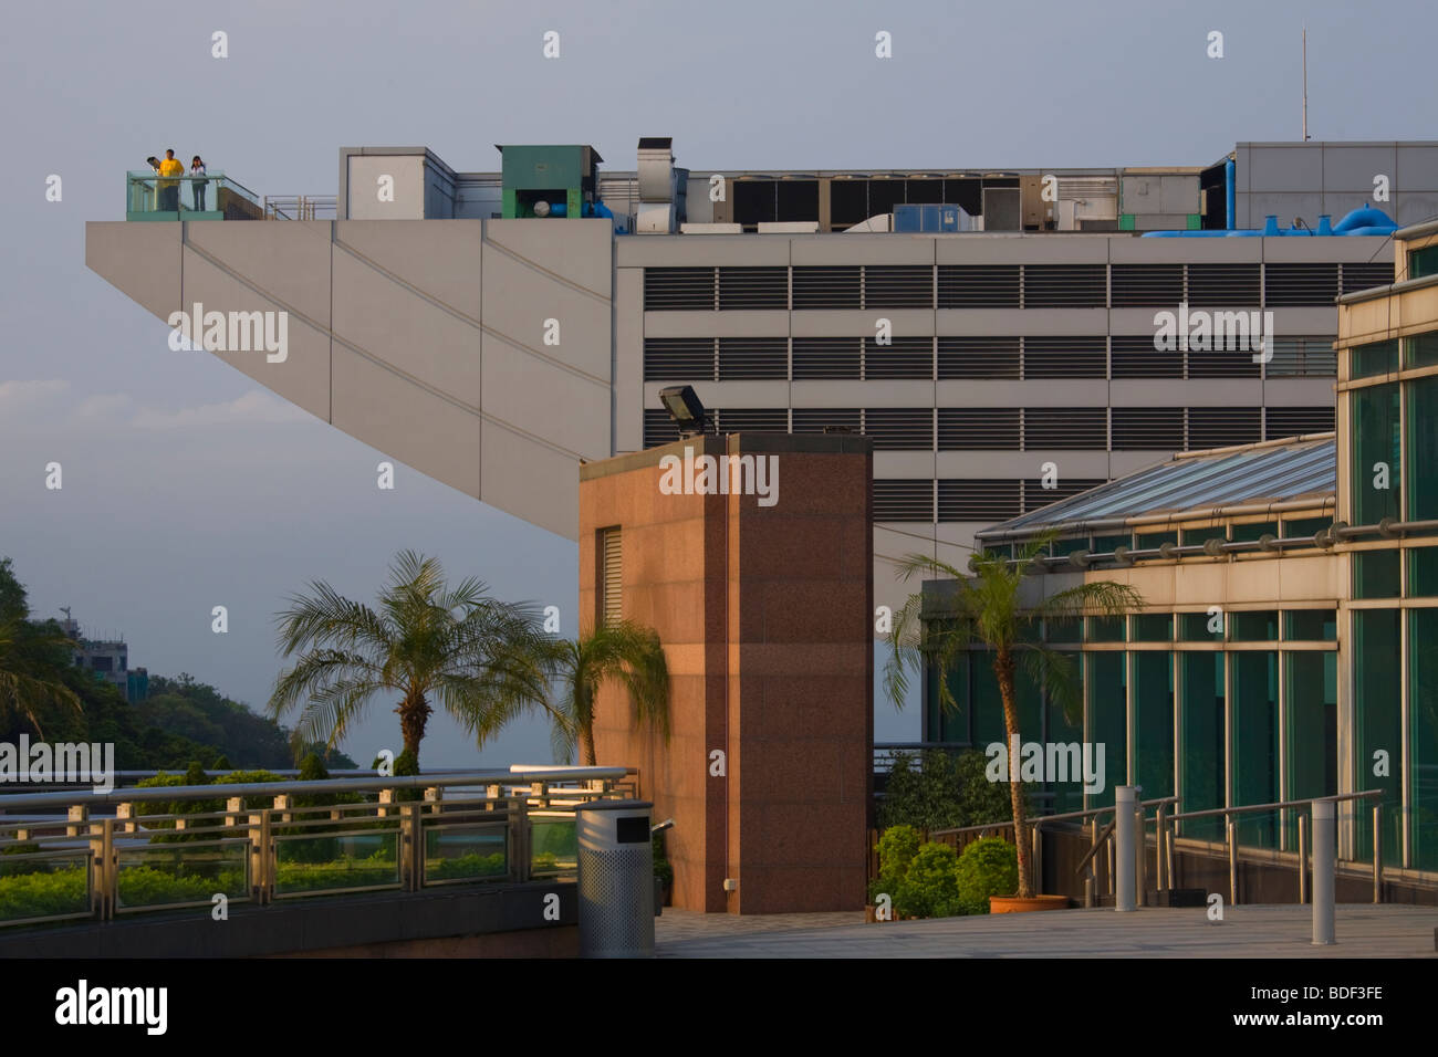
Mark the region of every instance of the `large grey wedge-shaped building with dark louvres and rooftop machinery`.
[[[92, 221], [86, 263], [165, 321], [285, 314], [283, 362], [207, 349], [568, 539], [581, 462], [677, 439], [667, 385], [707, 431], [867, 436], [897, 605], [906, 554], [962, 562], [979, 529], [1173, 452], [1334, 430], [1334, 299], [1391, 283], [1393, 224], [1438, 214], [1431, 141], [1099, 168], [690, 170], [657, 137], [634, 170], [585, 144], [499, 157], [347, 147], [334, 220]], [[1156, 345], [1188, 309], [1263, 319], [1264, 355], [1258, 328]]]

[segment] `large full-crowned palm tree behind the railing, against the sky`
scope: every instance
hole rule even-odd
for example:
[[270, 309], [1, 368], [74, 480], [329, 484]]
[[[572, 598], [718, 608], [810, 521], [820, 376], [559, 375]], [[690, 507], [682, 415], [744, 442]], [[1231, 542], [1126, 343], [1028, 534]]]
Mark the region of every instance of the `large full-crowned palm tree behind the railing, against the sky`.
[[436, 558], [400, 552], [378, 610], [345, 598], [322, 581], [292, 595], [278, 614], [279, 646], [295, 667], [275, 682], [269, 712], [302, 708], [296, 745], [334, 748], [374, 696], [400, 695], [394, 709], [404, 738], [395, 774], [418, 774], [420, 742], [434, 703], [483, 743], [529, 709], [546, 709], [548, 670], [557, 644], [529, 603], [489, 597], [466, 578], [453, 588]]

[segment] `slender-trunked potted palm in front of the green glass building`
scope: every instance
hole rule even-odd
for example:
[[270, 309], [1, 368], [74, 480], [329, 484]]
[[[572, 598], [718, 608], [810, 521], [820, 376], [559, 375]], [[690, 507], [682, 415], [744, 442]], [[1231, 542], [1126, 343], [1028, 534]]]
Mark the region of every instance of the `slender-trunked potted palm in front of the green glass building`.
[[[959, 654], [978, 640], [994, 653], [994, 676], [998, 679], [999, 696], [1004, 700], [1004, 729], [1009, 746], [1020, 736], [1018, 696], [1014, 687], [1014, 674], [1020, 663], [1035, 686], [1043, 687], [1070, 716], [1073, 715], [1074, 705], [1081, 700], [1073, 677], [1073, 664], [1061, 653], [1044, 644], [1043, 621], [1074, 620], [1086, 613], [1117, 617], [1142, 607], [1143, 598], [1127, 584], [1104, 580], [1057, 591], [1025, 607], [1021, 597], [1025, 577], [1030, 571], [1043, 571], [1037, 562], [1048, 552], [1051, 541], [1051, 532], [1037, 536], [1012, 559], [991, 551], [976, 554], [969, 559], [968, 574], [922, 554], [909, 555], [899, 562], [900, 578], [909, 580], [916, 572], [951, 577], [956, 591], [952, 601], [946, 600], [942, 614], [933, 604], [925, 608], [922, 592], [910, 595], [903, 608], [894, 614], [892, 649], [884, 666], [884, 687], [894, 705], [902, 708], [909, 689], [906, 669], [920, 670], [928, 660], [936, 669], [940, 706], [956, 708], [948, 674]], [[1017, 781], [1011, 781], [1008, 788], [1014, 810], [1014, 844], [1018, 853], [1017, 894], [1027, 897], [1032, 894], [1032, 887], [1025, 838], [1024, 788]]]

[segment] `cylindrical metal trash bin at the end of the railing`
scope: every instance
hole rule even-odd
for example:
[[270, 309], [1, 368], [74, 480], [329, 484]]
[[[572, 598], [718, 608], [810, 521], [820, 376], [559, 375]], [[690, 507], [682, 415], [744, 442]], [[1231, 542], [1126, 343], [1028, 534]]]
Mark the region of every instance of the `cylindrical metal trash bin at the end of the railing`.
[[601, 800], [574, 811], [580, 844], [580, 955], [654, 955], [654, 848], [647, 800]]

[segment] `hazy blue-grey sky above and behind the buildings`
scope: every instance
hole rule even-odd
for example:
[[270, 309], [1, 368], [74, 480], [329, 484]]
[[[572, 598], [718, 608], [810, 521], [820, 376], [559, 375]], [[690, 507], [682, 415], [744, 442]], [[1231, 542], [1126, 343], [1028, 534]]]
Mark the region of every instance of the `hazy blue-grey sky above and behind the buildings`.
[[[36, 616], [69, 605], [132, 666], [260, 708], [273, 614], [324, 580], [372, 600], [403, 548], [508, 600], [577, 611], [575, 544], [273, 397], [85, 267], [85, 221], [124, 217], [125, 170], [174, 147], [259, 194], [334, 194], [341, 147], [427, 145], [498, 170], [496, 142], [588, 142], [634, 168], [643, 135], [692, 168], [1211, 164], [1300, 138], [1438, 139], [1438, 10], [1347, 1], [956, 4], [13, 4], [0, 39], [0, 555]], [[559, 58], [544, 58], [544, 35]], [[227, 58], [213, 56], [213, 35]], [[876, 56], [876, 35], [892, 58]], [[1222, 58], [1209, 58], [1211, 33]], [[47, 201], [47, 177], [60, 200]], [[46, 465], [62, 466], [59, 490]], [[229, 630], [211, 631], [224, 605]], [[398, 752], [393, 700], [342, 745]], [[876, 739], [919, 736], [876, 693]], [[539, 720], [476, 749], [443, 716], [426, 767], [548, 762]]]

